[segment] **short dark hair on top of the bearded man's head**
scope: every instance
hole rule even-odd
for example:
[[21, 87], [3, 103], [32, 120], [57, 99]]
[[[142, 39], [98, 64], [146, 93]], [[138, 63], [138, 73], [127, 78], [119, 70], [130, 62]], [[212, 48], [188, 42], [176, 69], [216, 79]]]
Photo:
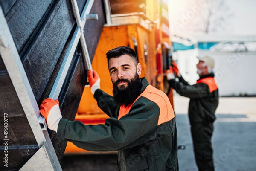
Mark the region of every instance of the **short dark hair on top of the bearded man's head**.
[[135, 64], [139, 63], [134, 49], [131, 49], [128, 46], [119, 46], [119, 47], [116, 47], [116, 48], [114, 48], [112, 50], [109, 50], [106, 53], [108, 62], [109, 62], [110, 58], [118, 58], [118, 57], [120, 57], [122, 55], [129, 55], [129, 56], [131, 56], [134, 59]]

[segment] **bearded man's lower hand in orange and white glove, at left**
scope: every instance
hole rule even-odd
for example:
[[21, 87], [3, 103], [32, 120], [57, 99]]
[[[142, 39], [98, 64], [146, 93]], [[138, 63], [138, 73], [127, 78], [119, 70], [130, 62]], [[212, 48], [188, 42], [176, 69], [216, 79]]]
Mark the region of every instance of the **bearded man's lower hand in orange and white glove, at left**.
[[40, 105], [40, 113], [44, 116], [48, 128], [57, 132], [58, 123], [60, 122], [62, 115], [59, 107], [58, 99], [53, 100], [51, 98], [44, 99]]

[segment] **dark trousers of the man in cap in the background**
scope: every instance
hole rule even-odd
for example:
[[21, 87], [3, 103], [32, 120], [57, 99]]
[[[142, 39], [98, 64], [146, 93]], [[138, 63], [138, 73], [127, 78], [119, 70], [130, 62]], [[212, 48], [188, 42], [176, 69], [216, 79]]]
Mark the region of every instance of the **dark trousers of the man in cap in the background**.
[[195, 161], [199, 171], [214, 171], [212, 133], [212, 122], [191, 124]]

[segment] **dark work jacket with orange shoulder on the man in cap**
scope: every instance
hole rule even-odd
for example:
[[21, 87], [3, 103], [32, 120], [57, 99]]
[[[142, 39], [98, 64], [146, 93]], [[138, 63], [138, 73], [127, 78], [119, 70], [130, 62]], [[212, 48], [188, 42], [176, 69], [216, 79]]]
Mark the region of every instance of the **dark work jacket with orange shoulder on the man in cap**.
[[201, 76], [194, 85], [189, 85], [183, 77], [180, 77], [179, 81], [172, 79], [168, 82], [170, 87], [173, 87], [181, 96], [190, 98], [189, 121], [191, 125], [215, 121], [219, 95], [213, 73]]

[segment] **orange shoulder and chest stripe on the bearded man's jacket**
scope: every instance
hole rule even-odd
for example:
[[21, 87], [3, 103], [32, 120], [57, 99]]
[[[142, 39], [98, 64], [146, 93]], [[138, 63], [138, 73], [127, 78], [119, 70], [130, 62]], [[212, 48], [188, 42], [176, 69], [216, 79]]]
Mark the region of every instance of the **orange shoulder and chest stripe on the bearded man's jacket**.
[[[139, 99], [140, 97], [145, 97], [155, 102], [159, 106], [160, 114], [157, 125], [160, 125], [164, 122], [168, 122], [174, 118], [174, 111], [172, 109], [172, 105], [166, 94], [163, 93], [161, 90], [158, 90], [153, 86], [148, 85], [146, 89], [143, 91], [143, 93], [141, 93], [137, 99]], [[137, 101], [137, 99], [135, 101]], [[119, 110], [118, 119], [128, 114], [133, 104], [130, 104], [127, 107], [124, 107], [124, 105], [122, 105]]]

